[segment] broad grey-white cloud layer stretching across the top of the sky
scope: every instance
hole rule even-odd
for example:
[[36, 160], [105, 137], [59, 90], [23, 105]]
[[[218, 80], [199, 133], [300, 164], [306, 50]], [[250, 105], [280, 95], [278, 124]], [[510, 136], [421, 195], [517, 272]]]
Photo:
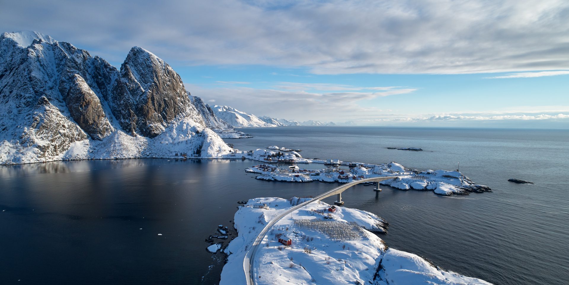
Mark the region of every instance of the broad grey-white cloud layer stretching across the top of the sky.
[[569, 69], [568, 15], [566, 0], [36, 0], [3, 3], [0, 27], [38, 30], [113, 64], [141, 46], [188, 65], [491, 73]]

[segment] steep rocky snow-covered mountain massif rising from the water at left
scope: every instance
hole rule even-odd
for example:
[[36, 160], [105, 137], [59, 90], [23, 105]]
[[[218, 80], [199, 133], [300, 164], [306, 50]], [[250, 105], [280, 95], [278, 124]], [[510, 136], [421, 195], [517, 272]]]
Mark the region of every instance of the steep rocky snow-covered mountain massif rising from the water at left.
[[37, 32], [3, 33], [0, 102], [0, 164], [231, 151], [178, 73], [139, 47], [119, 71]]

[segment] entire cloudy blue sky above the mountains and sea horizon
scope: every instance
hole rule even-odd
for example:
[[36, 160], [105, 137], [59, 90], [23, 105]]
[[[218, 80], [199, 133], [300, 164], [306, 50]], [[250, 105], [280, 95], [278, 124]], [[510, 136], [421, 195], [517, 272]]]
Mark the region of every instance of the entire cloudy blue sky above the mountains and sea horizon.
[[569, 1], [5, 1], [117, 68], [145, 48], [193, 96], [348, 125], [569, 129]]

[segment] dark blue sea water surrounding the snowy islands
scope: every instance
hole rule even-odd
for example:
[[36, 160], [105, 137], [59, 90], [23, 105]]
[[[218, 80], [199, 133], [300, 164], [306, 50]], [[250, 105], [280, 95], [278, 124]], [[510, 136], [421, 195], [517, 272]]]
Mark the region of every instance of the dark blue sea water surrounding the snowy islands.
[[[344, 192], [345, 206], [386, 218], [387, 245], [446, 270], [495, 284], [569, 283], [567, 130], [242, 131], [254, 138], [226, 142], [241, 150], [278, 145], [310, 158], [395, 161], [420, 170], [455, 170], [460, 161], [464, 175], [494, 192], [440, 197], [383, 187], [377, 194], [358, 185]], [[336, 185], [256, 180], [243, 171], [253, 164], [128, 159], [2, 166], [0, 283], [216, 284], [221, 257], [205, 251], [204, 238], [219, 224], [230, 226], [236, 201], [315, 196]], [[506, 181], [512, 177], [535, 184]]]

